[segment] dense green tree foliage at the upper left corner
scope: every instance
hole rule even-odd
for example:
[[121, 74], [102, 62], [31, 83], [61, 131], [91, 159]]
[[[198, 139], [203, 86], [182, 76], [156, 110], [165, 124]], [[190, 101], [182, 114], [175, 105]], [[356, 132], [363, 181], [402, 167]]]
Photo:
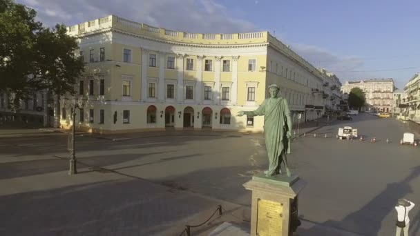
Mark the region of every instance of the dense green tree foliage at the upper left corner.
[[77, 41], [66, 26], [45, 28], [35, 21], [37, 12], [12, 0], [0, 0], [0, 92], [21, 99], [48, 88], [55, 95], [74, 93], [84, 71], [75, 57]]

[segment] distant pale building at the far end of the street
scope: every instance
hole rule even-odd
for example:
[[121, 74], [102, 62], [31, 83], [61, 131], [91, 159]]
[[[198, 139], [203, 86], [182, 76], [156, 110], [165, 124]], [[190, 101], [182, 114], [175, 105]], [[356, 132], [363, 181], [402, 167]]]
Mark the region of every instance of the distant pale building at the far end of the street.
[[365, 79], [346, 81], [341, 87], [343, 93], [350, 94], [352, 88], [361, 88], [365, 92], [365, 107], [362, 110], [374, 112], [392, 112], [394, 80]]

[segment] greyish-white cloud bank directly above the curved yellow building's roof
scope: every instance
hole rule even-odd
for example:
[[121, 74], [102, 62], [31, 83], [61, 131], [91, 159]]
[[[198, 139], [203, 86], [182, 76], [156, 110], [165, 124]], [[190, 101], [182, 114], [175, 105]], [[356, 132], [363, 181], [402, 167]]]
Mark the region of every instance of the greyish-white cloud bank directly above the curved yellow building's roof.
[[235, 19], [229, 10], [213, 0], [18, 0], [28, 6], [37, 6], [44, 25], [56, 23], [75, 25], [84, 21], [115, 14], [119, 17], [147, 23], [152, 26], [188, 32], [251, 32], [256, 27], [250, 21]]

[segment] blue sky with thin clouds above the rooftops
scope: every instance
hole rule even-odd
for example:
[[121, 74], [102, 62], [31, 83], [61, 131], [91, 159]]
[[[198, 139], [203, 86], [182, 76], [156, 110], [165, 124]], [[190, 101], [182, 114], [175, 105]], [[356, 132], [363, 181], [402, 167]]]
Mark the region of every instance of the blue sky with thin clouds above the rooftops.
[[17, 0], [44, 26], [115, 14], [151, 26], [201, 33], [269, 31], [316, 67], [345, 81], [420, 72], [418, 0]]

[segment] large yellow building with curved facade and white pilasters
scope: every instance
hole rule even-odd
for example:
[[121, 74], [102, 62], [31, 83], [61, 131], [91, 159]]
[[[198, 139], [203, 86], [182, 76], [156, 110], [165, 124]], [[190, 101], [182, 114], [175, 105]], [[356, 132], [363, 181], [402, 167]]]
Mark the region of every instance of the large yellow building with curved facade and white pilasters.
[[[301, 121], [324, 110], [323, 73], [269, 32], [178, 32], [110, 15], [71, 26], [68, 34], [86, 63], [76, 89], [86, 99], [77, 109], [79, 129], [262, 131], [263, 117], [236, 115], [258, 108], [271, 83], [294, 114], [303, 113]], [[67, 101], [61, 100], [64, 128], [72, 125]]]

